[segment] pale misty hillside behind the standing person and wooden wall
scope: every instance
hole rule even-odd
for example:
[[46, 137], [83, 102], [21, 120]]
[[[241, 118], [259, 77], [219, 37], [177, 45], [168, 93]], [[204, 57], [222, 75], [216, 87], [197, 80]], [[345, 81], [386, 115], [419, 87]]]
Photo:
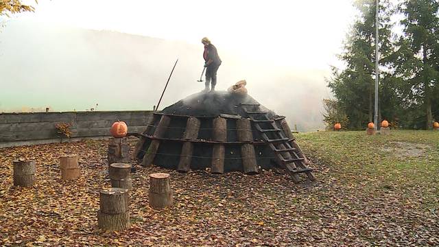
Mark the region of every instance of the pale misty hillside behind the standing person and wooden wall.
[[[0, 112], [152, 110], [178, 58], [161, 110], [204, 88], [197, 82], [202, 49], [201, 43], [9, 21], [0, 33]], [[281, 67], [217, 49], [223, 61], [217, 90], [247, 80], [249, 95], [285, 115], [292, 128], [323, 128], [327, 70]]]

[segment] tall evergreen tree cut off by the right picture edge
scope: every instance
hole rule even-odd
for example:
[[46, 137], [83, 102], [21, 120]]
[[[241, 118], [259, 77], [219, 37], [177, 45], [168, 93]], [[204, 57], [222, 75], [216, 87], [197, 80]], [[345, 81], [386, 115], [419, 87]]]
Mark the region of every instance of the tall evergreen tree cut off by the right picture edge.
[[[439, 1], [405, 0], [399, 6], [404, 16], [403, 37], [396, 52], [396, 75], [401, 78], [399, 95], [403, 106], [414, 113], [412, 125], [431, 128], [433, 106], [439, 105]], [[437, 109], [437, 108], [436, 108]], [[423, 119], [419, 110], [423, 110]]]

